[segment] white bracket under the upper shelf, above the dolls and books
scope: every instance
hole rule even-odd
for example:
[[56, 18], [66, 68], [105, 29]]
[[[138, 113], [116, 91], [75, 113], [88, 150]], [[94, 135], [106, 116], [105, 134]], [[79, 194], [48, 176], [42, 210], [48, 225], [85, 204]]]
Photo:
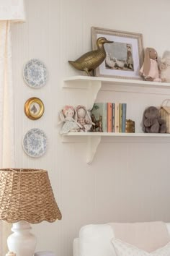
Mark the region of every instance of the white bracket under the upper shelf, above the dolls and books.
[[94, 101], [96, 101], [97, 94], [102, 88], [102, 81], [86, 81], [87, 87], [87, 109], [93, 108]]

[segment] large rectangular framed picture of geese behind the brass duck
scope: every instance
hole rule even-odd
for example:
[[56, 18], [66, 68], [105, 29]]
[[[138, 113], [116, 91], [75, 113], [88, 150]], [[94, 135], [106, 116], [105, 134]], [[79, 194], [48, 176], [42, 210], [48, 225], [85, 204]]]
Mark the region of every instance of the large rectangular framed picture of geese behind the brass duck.
[[139, 71], [143, 64], [143, 35], [118, 30], [91, 27], [92, 48], [97, 49], [97, 39], [107, 38], [106, 59], [95, 69], [97, 77], [119, 77], [142, 80]]

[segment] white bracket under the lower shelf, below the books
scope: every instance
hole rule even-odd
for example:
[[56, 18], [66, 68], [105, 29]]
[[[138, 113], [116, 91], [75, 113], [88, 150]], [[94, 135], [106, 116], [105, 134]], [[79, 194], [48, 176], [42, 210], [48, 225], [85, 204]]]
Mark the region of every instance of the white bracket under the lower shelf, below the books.
[[94, 155], [97, 153], [97, 148], [100, 142], [101, 136], [89, 136], [87, 138], [86, 163], [92, 163]]

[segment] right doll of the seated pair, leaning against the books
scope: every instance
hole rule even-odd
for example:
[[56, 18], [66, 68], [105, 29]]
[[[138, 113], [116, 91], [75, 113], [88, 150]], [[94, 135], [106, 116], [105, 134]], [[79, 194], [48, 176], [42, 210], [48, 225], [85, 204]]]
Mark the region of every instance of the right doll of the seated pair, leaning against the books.
[[94, 123], [91, 121], [91, 117], [87, 109], [84, 106], [79, 105], [76, 107], [76, 113], [77, 113], [77, 121], [82, 126], [81, 132], [89, 132], [92, 124]]

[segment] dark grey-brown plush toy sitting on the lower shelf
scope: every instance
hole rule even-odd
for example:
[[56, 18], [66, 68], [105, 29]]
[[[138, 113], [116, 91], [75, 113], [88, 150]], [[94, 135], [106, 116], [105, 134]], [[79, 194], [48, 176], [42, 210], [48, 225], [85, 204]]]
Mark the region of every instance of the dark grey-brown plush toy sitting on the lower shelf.
[[144, 111], [143, 132], [166, 133], [166, 122], [160, 118], [158, 108], [150, 106]]

